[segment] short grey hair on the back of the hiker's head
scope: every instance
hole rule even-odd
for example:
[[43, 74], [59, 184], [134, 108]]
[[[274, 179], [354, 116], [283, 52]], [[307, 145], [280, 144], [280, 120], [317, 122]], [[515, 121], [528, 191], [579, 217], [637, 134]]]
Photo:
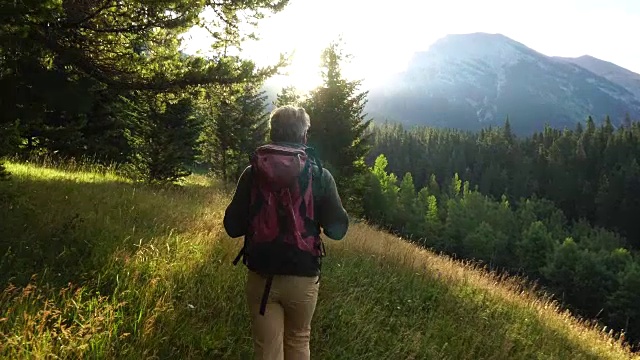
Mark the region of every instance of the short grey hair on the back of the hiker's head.
[[271, 112], [269, 125], [271, 141], [301, 143], [311, 120], [304, 108], [285, 105]]

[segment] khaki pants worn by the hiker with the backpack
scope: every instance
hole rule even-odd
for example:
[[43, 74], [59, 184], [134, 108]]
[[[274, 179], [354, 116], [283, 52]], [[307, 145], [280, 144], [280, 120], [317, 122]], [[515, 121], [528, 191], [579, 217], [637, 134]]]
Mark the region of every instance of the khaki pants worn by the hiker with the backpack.
[[260, 301], [266, 278], [249, 271], [246, 295], [256, 360], [308, 360], [318, 277], [275, 276], [264, 316]]

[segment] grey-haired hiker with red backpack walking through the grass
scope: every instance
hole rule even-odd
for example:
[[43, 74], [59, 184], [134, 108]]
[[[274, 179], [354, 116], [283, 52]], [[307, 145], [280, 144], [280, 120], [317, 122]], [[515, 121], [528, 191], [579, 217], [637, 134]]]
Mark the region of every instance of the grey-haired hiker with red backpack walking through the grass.
[[271, 143], [256, 149], [224, 215], [242, 258], [256, 359], [309, 359], [311, 319], [325, 255], [321, 234], [341, 240], [349, 219], [331, 173], [308, 147], [303, 108], [270, 116]]

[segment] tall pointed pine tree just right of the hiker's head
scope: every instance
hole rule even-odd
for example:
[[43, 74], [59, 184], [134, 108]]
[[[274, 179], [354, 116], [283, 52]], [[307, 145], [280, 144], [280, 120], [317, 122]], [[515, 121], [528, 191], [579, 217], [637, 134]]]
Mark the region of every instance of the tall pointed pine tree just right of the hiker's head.
[[315, 147], [324, 165], [332, 171], [345, 206], [360, 211], [364, 196], [366, 165], [369, 151], [364, 107], [368, 92], [358, 92], [361, 81], [348, 81], [340, 65], [346, 57], [338, 43], [331, 43], [322, 53], [323, 85], [313, 90], [303, 107], [311, 118], [309, 144]]

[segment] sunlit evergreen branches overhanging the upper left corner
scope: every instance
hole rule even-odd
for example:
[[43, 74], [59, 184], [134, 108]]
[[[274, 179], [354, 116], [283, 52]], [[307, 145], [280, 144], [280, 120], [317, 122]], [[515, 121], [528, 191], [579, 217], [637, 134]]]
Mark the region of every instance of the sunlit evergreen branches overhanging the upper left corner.
[[[150, 6], [134, 0], [5, 1], [0, 4], [0, 47], [20, 57], [48, 58], [44, 64], [114, 88], [167, 91], [237, 83], [276, 70], [255, 72], [252, 62], [226, 55], [229, 46], [237, 46], [245, 37], [238, 26], [241, 19], [255, 23], [286, 3], [168, 0]], [[214, 15], [202, 18], [208, 7]], [[179, 37], [193, 26], [224, 30], [224, 36], [216, 34], [213, 44], [215, 61], [183, 56]]]

